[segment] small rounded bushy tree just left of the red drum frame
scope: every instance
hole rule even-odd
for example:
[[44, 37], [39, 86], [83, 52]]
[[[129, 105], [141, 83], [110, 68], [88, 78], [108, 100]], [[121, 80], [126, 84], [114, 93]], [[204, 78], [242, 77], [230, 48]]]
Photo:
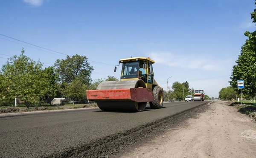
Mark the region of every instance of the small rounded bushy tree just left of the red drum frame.
[[63, 90], [63, 96], [74, 100], [86, 99], [87, 86], [84, 85], [79, 79], [73, 80], [67, 84]]

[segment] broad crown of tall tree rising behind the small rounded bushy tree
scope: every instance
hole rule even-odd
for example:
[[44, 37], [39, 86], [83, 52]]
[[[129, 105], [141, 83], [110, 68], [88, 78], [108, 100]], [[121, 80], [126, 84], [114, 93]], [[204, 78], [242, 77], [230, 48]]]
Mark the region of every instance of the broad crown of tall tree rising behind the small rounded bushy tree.
[[93, 66], [90, 66], [86, 56], [76, 54], [70, 57], [67, 55], [67, 59], [57, 59], [55, 62], [55, 72], [61, 83], [69, 84], [78, 79], [89, 86], [92, 81], [90, 78], [92, 71]]

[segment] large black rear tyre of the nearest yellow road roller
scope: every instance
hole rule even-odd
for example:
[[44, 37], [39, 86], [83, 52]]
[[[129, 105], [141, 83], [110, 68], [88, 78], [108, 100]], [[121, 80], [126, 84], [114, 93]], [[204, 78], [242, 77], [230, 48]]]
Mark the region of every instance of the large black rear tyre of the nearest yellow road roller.
[[155, 86], [153, 87], [153, 95], [154, 100], [153, 102], [149, 102], [149, 105], [152, 109], [158, 109], [163, 107], [163, 91], [160, 87]]

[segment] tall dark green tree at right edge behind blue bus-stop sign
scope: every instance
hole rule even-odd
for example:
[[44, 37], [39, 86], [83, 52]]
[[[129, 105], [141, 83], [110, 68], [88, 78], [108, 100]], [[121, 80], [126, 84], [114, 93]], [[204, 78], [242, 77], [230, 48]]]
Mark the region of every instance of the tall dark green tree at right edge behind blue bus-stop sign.
[[[255, 3], [256, 4], [256, 3]], [[256, 23], [256, 9], [251, 13], [253, 23]], [[244, 35], [248, 38], [241, 47], [241, 53], [233, 66], [230, 76], [231, 87], [236, 89], [237, 94], [240, 90], [237, 88], [237, 80], [244, 79], [245, 88], [242, 90], [247, 96], [256, 96], [256, 31], [246, 31]]]

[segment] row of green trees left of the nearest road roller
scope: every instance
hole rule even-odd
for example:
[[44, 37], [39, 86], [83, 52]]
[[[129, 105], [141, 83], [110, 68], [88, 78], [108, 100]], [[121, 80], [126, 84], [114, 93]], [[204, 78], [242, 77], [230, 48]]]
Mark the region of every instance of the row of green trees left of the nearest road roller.
[[22, 100], [26, 107], [40, 104], [50, 96], [74, 100], [86, 99], [86, 90], [95, 90], [102, 81], [118, 80], [114, 76], [92, 81], [93, 66], [86, 56], [73, 55], [57, 59], [53, 66], [26, 56], [22, 48], [19, 56], [9, 58], [0, 71], [0, 106], [13, 105]]

